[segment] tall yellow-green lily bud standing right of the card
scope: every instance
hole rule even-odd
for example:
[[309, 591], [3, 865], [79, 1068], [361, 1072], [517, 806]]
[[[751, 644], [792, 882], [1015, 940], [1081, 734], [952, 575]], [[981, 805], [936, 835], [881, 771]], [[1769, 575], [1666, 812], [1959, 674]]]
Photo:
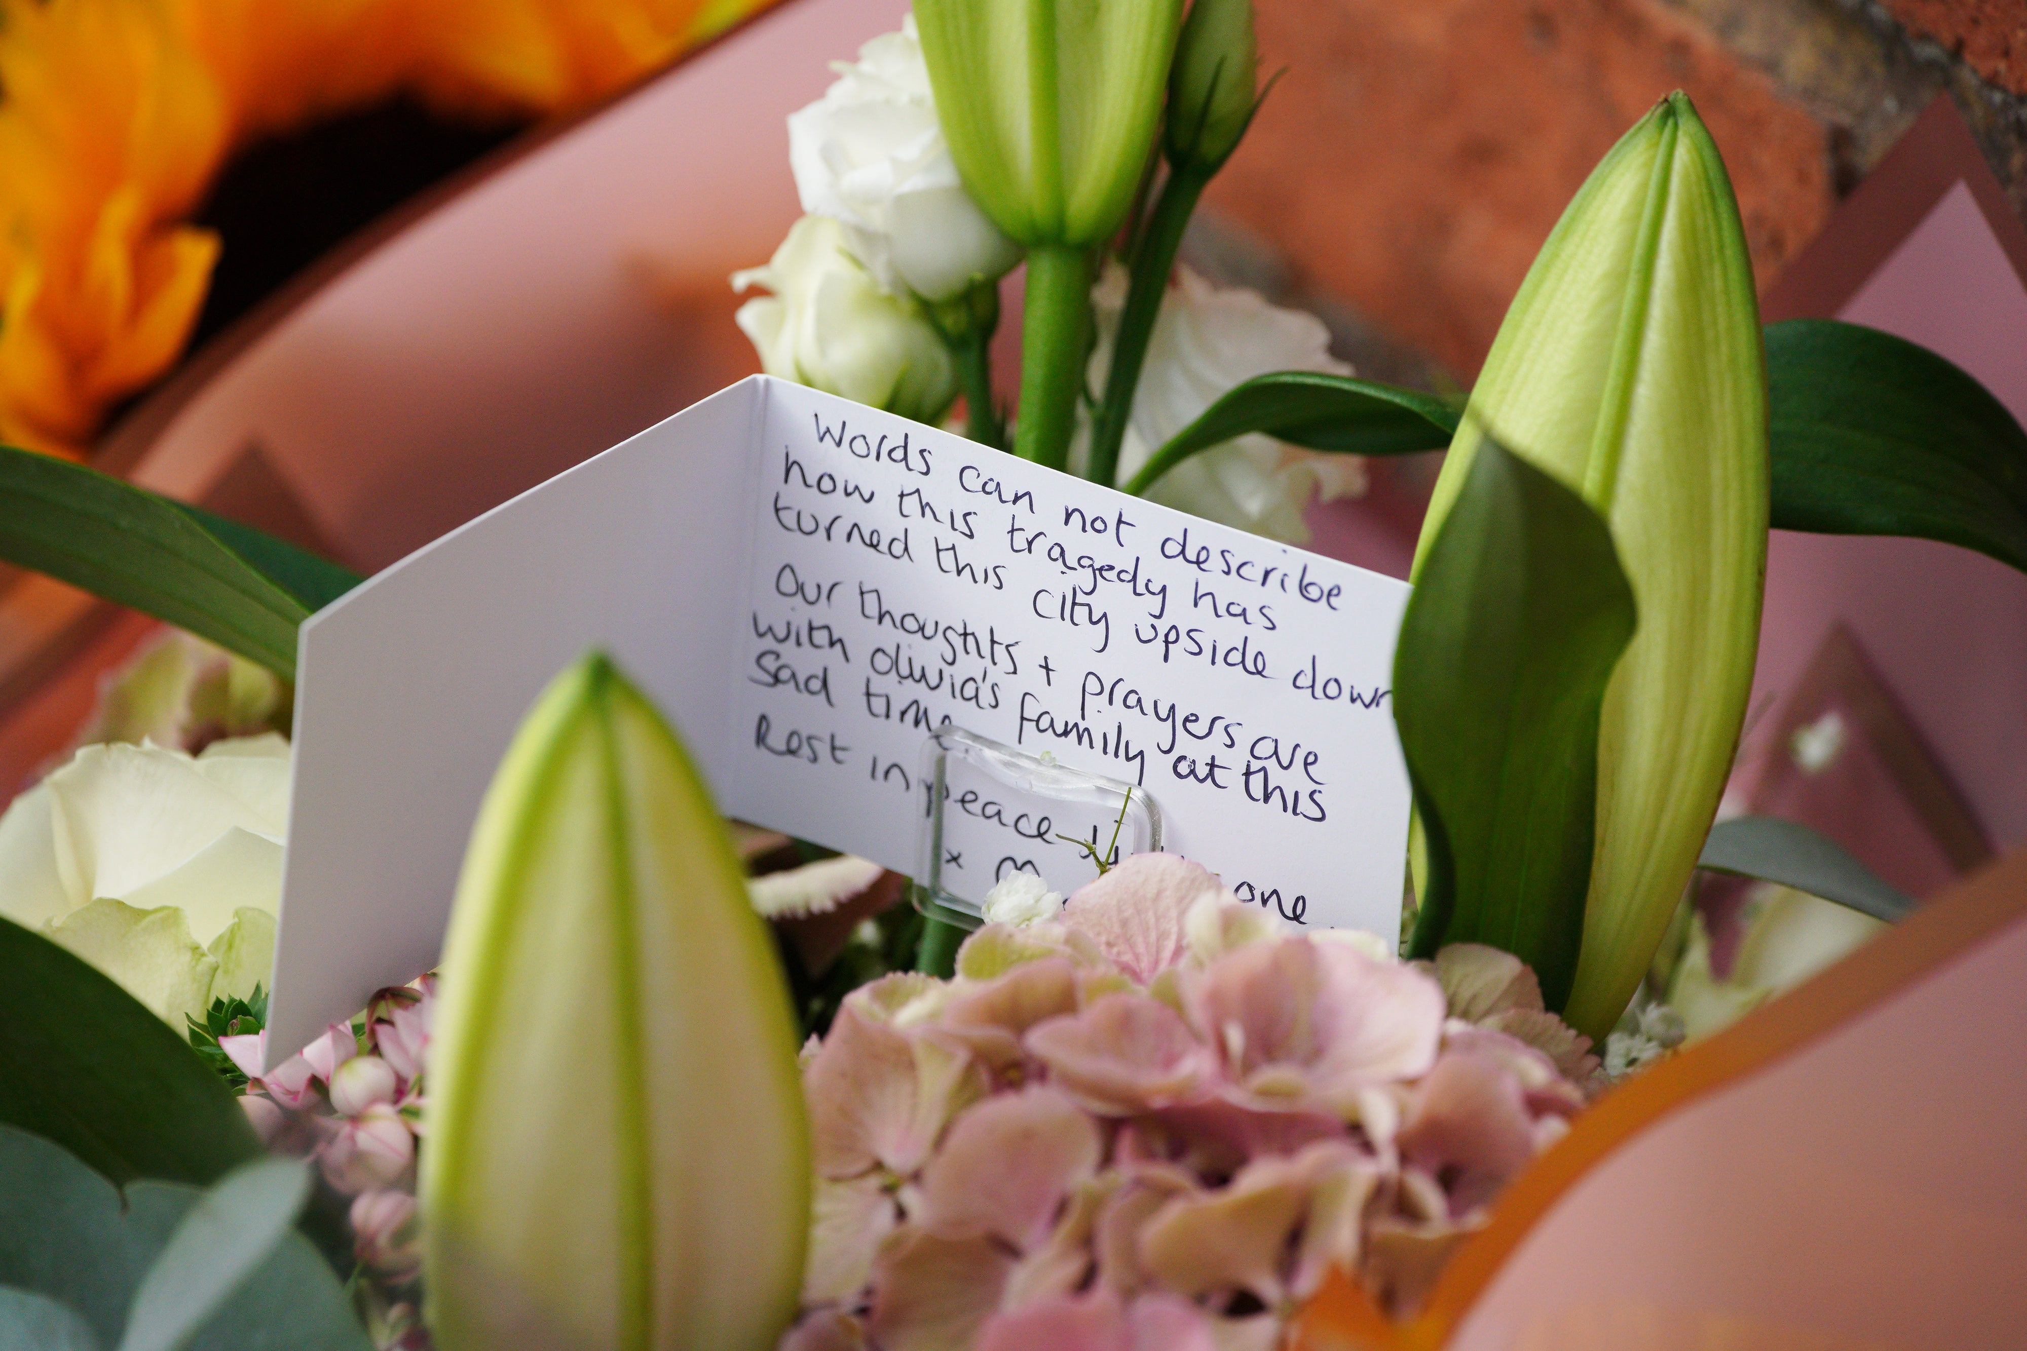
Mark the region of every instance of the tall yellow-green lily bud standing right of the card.
[[1640, 608], [1605, 691], [1583, 950], [1565, 1007], [1601, 1041], [1717, 812], [1766, 575], [1759, 306], [1731, 180], [1682, 93], [1599, 162], [1520, 284], [1417, 565], [1488, 431], [1597, 508]]

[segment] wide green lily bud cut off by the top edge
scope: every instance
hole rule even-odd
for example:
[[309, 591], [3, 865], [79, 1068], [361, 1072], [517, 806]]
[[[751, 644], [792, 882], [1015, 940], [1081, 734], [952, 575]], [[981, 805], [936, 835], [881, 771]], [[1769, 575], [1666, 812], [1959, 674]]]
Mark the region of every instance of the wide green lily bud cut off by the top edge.
[[916, 0], [957, 172], [1003, 235], [1093, 245], [1161, 120], [1182, 0]]

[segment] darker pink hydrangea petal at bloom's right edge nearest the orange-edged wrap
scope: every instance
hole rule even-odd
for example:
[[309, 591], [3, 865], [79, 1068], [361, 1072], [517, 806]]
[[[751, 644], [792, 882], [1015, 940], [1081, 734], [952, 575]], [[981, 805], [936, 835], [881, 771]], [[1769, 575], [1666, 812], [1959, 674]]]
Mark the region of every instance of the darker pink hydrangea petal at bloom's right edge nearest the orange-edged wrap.
[[1401, 1126], [1401, 1159], [1449, 1193], [1449, 1213], [1466, 1215], [1534, 1157], [1534, 1122], [1520, 1078], [1482, 1049], [1447, 1051], [1415, 1094]]

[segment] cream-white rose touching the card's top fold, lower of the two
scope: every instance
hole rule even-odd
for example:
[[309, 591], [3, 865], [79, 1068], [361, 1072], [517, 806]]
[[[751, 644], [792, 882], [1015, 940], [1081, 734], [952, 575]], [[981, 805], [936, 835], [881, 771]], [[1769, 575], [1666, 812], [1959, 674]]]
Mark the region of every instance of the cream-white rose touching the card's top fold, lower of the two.
[[768, 375], [926, 423], [957, 399], [957, 367], [920, 304], [874, 286], [837, 221], [803, 217], [766, 267], [732, 273], [732, 290], [756, 284], [772, 296], [736, 318]]

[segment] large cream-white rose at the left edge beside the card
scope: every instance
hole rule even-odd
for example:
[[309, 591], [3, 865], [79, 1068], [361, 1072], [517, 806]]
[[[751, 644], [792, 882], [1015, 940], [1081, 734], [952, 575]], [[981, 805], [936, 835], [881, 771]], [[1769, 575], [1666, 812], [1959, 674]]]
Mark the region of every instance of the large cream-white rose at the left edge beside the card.
[[203, 756], [87, 745], [0, 816], [0, 913], [168, 1019], [251, 997], [274, 964], [288, 741]]

